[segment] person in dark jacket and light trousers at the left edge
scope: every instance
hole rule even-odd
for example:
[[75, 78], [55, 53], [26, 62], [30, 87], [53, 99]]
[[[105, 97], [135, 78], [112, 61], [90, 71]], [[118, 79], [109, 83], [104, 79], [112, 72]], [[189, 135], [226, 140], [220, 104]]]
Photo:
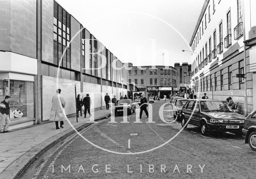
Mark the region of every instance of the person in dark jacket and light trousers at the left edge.
[[0, 104], [0, 133], [6, 133], [9, 131], [9, 125], [10, 125], [10, 96], [5, 96], [4, 100]]

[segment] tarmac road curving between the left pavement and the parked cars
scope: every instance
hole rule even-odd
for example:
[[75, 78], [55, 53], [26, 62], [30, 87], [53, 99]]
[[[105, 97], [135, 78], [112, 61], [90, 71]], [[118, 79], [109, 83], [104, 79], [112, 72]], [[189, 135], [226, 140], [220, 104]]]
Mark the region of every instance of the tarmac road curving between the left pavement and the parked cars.
[[163, 104], [152, 104], [155, 123], [147, 123], [145, 114], [142, 123], [134, 123], [136, 114], [132, 114], [129, 123], [116, 116], [116, 123], [106, 119], [80, 132], [100, 148], [79, 135], [69, 136], [40, 155], [20, 179], [255, 178], [255, 153], [244, 144], [244, 136], [202, 136], [200, 128], [190, 124], [180, 132], [169, 102], [164, 121], [172, 123], [160, 119]]

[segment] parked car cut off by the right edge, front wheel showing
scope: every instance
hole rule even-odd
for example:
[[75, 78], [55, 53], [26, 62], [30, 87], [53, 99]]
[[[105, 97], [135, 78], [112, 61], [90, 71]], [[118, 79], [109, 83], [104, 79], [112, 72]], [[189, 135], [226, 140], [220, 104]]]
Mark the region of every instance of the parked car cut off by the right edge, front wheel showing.
[[242, 132], [245, 136], [245, 143], [249, 143], [250, 148], [256, 151], [256, 109], [245, 118]]

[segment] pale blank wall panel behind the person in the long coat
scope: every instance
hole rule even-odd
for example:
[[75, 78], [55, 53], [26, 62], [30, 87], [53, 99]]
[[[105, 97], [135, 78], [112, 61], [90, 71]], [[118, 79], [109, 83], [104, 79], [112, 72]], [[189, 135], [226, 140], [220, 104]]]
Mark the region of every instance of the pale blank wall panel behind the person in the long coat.
[[66, 114], [76, 113], [76, 98], [74, 85], [76, 84], [76, 92], [80, 92], [80, 81], [58, 79], [58, 87], [56, 77], [42, 76], [42, 121], [49, 120], [50, 110], [52, 107], [52, 96], [56, 94], [57, 89], [61, 89], [61, 94], [66, 100]]

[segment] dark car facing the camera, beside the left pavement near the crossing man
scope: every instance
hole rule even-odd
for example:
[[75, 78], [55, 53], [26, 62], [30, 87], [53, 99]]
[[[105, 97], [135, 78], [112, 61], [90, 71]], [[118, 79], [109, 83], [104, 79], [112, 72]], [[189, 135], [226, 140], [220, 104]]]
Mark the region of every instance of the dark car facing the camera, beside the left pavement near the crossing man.
[[127, 109], [127, 114], [135, 112], [135, 104], [131, 99], [121, 99], [116, 101], [115, 114], [123, 114], [124, 109]]

